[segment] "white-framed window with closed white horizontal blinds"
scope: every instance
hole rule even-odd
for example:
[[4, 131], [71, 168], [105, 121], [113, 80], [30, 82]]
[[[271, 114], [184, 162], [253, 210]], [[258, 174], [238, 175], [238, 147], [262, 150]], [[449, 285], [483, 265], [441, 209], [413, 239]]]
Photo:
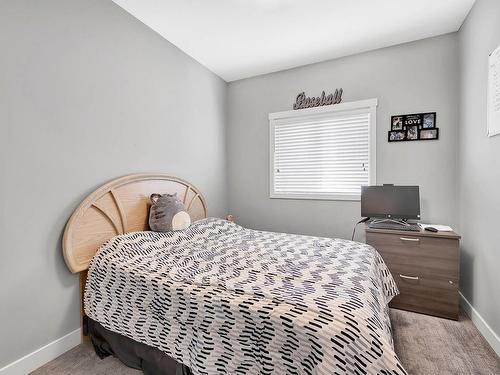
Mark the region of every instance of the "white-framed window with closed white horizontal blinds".
[[375, 184], [377, 99], [269, 114], [271, 198], [359, 200]]

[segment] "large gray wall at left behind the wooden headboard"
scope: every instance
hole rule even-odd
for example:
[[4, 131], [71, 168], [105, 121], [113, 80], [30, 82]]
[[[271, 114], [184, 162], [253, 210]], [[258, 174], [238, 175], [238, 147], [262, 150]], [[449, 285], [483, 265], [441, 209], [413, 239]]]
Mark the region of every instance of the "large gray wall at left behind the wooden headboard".
[[226, 213], [226, 83], [111, 1], [0, 2], [0, 368], [78, 328], [61, 255], [109, 179], [167, 172]]

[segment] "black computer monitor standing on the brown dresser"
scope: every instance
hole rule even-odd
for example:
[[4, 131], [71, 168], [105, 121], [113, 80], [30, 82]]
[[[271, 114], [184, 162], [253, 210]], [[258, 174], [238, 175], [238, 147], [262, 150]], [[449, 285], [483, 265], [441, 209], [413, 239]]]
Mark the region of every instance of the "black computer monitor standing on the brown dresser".
[[361, 216], [420, 219], [418, 186], [362, 186]]

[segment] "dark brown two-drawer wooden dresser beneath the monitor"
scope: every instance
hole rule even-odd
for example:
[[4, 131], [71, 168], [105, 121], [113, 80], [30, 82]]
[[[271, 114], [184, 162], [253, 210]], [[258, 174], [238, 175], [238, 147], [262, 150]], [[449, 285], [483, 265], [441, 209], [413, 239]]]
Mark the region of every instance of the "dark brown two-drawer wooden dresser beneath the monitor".
[[458, 234], [365, 230], [366, 243], [382, 255], [401, 293], [389, 306], [458, 320]]

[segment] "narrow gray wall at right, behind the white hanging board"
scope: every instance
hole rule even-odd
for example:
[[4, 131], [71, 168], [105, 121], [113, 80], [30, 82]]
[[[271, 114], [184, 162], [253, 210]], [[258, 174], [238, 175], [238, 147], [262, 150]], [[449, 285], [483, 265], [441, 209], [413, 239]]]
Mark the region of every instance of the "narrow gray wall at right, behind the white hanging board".
[[500, 135], [486, 136], [488, 55], [500, 45], [500, 1], [477, 0], [459, 32], [460, 289], [500, 335]]

